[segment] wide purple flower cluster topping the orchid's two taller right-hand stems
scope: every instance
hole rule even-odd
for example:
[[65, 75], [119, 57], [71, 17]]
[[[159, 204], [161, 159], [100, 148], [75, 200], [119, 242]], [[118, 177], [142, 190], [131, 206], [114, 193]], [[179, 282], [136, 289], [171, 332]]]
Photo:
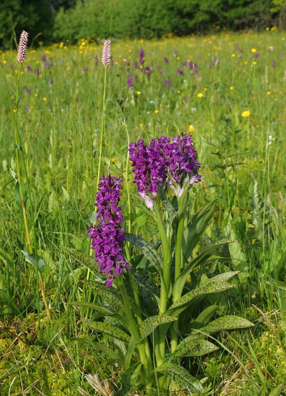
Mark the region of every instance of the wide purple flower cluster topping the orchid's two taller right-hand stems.
[[134, 182], [141, 197], [151, 207], [150, 198], [157, 196], [158, 188], [166, 181], [180, 197], [182, 186], [189, 174], [189, 185], [201, 180], [198, 175], [200, 164], [196, 160], [196, 151], [192, 147], [191, 135], [183, 133], [173, 137], [152, 139], [149, 146], [143, 140], [129, 145], [130, 160], [135, 174]]

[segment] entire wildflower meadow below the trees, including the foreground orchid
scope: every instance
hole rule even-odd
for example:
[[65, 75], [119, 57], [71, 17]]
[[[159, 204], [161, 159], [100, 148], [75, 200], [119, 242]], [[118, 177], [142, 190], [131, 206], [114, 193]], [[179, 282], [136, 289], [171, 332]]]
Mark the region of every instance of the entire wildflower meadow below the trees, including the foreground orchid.
[[16, 45], [0, 396], [286, 395], [286, 33]]

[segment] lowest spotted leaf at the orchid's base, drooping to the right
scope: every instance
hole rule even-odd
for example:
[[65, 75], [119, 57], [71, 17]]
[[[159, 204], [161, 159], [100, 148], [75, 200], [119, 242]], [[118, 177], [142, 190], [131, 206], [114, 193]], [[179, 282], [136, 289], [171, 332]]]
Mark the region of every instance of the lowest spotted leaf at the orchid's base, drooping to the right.
[[184, 367], [179, 366], [178, 364], [173, 364], [170, 362], [163, 363], [156, 369], [156, 371], [167, 374], [178, 385], [187, 388], [191, 392], [203, 394], [203, 387], [201, 383], [196, 378], [191, 376], [191, 374], [188, 373]]

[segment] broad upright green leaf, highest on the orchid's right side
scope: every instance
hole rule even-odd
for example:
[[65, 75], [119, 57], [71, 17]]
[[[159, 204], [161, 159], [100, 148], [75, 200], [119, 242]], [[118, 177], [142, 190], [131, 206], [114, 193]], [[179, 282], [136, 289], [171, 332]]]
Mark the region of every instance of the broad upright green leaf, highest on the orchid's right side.
[[191, 255], [193, 248], [197, 245], [202, 233], [204, 232], [207, 223], [214, 214], [217, 199], [209, 202], [200, 211], [193, 216], [190, 223], [184, 230], [182, 239], [182, 251], [185, 257], [185, 262]]

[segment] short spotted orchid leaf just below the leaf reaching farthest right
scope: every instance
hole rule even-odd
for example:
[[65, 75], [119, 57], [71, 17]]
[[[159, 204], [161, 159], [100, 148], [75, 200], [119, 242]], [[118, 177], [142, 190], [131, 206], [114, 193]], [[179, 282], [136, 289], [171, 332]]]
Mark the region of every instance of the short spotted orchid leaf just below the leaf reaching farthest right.
[[187, 342], [183, 340], [175, 350], [174, 357], [202, 356], [216, 349], [218, 349], [216, 345], [204, 339], [190, 340]]

